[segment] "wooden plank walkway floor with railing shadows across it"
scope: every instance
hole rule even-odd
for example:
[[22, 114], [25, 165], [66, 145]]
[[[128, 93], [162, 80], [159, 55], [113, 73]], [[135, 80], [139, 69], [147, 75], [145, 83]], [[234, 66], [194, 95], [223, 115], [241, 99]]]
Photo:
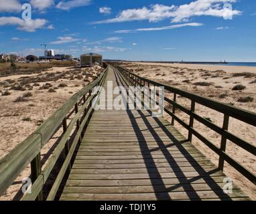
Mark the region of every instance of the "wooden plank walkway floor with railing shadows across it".
[[[125, 85], [113, 69], [105, 88], [107, 81]], [[236, 185], [223, 193], [224, 178], [164, 118], [147, 110], [97, 110], [60, 200], [249, 200]]]

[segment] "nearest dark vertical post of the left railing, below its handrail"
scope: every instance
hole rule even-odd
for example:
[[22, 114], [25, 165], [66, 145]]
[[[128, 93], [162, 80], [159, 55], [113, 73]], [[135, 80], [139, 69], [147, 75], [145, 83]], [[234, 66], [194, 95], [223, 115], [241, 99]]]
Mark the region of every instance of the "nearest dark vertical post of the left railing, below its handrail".
[[[30, 163], [31, 165], [31, 182], [35, 183], [38, 176], [42, 173], [42, 165], [41, 165], [41, 153], [39, 153]], [[44, 200], [43, 190], [40, 191], [38, 197], [36, 198], [38, 201]]]

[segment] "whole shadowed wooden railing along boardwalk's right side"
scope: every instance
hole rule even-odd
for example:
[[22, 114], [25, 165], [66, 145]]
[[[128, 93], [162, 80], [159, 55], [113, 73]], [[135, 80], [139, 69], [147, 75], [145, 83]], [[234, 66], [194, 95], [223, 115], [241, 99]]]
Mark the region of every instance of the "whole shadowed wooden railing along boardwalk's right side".
[[[218, 168], [223, 171], [224, 163], [227, 161], [231, 167], [234, 167], [239, 173], [241, 173], [243, 176], [245, 176], [249, 181], [251, 181], [253, 184], [256, 185], [256, 176], [253, 172], [251, 172], [249, 169], [246, 169], [241, 165], [241, 163], [237, 162], [233, 157], [231, 157], [226, 152], [226, 144], [227, 140], [231, 140], [231, 142], [237, 144], [237, 146], [247, 150], [247, 152], [250, 152], [254, 156], [256, 155], [256, 146], [247, 142], [246, 140], [243, 140], [239, 138], [238, 136], [235, 136], [235, 134], [232, 134], [229, 132], [229, 118], [236, 118], [237, 120], [243, 121], [247, 124], [250, 124], [252, 126], [256, 126], [256, 114], [254, 112], [249, 112], [247, 110], [242, 110], [240, 108], [235, 108], [233, 106], [229, 106], [227, 104], [224, 104], [222, 102], [217, 102], [214, 100], [211, 100], [209, 98], [204, 98], [202, 96], [198, 96], [196, 94], [191, 94], [189, 92], [186, 92], [184, 90], [180, 90], [178, 88], [174, 88], [172, 86], [166, 86], [164, 84], [160, 84], [158, 82], [154, 82], [152, 80], [148, 80], [147, 78], [141, 78], [140, 76], [134, 74], [133, 72], [130, 72], [129, 70], [118, 66], [113, 65], [115, 68], [121, 72], [123, 76], [130, 82], [132, 86], [147, 86], [150, 88], [150, 86], [162, 86], [164, 87], [164, 90], [174, 94], [174, 99], [171, 100], [169, 98], [164, 98], [166, 102], [171, 104], [172, 111], [166, 107], [164, 107], [164, 110], [166, 113], [168, 113], [170, 116], [172, 116], [172, 125], [174, 125], [174, 121], [176, 120], [179, 122], [184, 128], [188, 130], [188, 140], [192, 140], [192, 136], [196, 136], [200, 141], [202, 141], [206, 146], [208, 146], [211, 150], [213, 150], [216, 154], [219, 156], [218, 160]], [[150, 90], [150, 89], [149, 89]], [[156, 93], [157, 96], [159, 96], [158, 93]], [[191, 101], [190, 109], [185, 108], [184, 106], [178, 104], [177, 102], [177, 95], [182, 96], [183, 98], [188, 98]], [[158, 102], [156, 102], [158, 104]], [[206, 120], [202, 116], [199, 116], [195, 113], [195, 107], [196, 104], [201, 104], [202, 106], [206, 106], [208, 108], [211, 108], [212, 110], [216, 110], [217, 112], [220, 112], [223, 114], [223, 124], [222, 127], [217, 126], [216, 124], [210, 122], [209, 120]], [[182, 112], [188, 114], [190, 116], [190, 122], [189, 124], [186, 124], [183, 120], [181, 120], [176, 115], [176, 109], [182, 110]], [[206, 137], [202, 136], [193, 126], [194, 126], [194, 120], [197, 120], [198, 122], [204, 124], [211, 130], [214, 130], [214, 132], [220, 134], [221, 136], [221, 142], [220, 147], [214, 145], [212, 142], [210, 142]]]

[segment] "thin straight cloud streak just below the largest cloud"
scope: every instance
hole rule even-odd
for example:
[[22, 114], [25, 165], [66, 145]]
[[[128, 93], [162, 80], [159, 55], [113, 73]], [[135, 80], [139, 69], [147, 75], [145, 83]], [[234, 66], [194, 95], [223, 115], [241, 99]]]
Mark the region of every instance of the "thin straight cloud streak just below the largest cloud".
[[176, 29], [176, 28], [180, 28], [180, 27], [200, 27], [204, 24], [202, 23], [196, 23], [196, 22], [192, 22], [192, 23], [183, 23], [183, 24], [179, 24], [179, 25], [169, 25], [169, 26], [164, 26], [164, 27], [147, 27], [147, 28], [138, 28], [138, 29], [125, 29], [125, 30], [119, 30], [119, 31], [115, 31], [115, 33], [136, 33], [136, 32], [141, 32], [141, 31], [163, 31], [163, 30], [167, 30], [167, 29]]

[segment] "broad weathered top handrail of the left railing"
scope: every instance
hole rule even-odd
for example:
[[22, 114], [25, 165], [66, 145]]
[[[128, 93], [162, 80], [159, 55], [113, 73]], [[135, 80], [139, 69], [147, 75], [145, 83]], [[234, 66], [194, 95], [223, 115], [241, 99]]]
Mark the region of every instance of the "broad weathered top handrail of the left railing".
[[72, 110], [72, 107], [79, 102], [82, 96], [101, 82], [107, 73], [107, 69], [96, 80], [62, 104], [39, 128], [0, 160], [0, 195], [6, 191], [27, 165], [40, 153], [40, 150], [62, 124], [62, 120]]

